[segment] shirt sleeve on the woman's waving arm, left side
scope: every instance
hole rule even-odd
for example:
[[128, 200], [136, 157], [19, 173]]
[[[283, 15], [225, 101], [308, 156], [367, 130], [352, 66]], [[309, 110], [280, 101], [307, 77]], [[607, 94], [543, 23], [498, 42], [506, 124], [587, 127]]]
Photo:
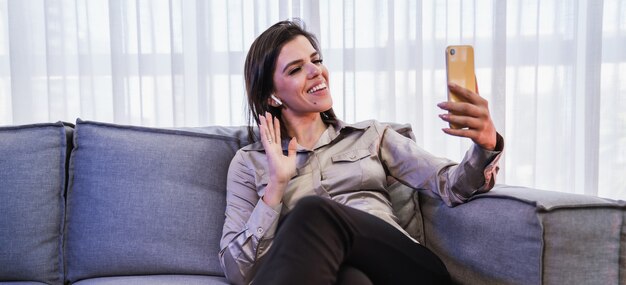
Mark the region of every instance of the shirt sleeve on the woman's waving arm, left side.
[[272, 244], [282, 204], [273, 208], [260, 199], [242, 151], [231, 161], [226, 189], [220, 263], [232, 284], [249, 284]]

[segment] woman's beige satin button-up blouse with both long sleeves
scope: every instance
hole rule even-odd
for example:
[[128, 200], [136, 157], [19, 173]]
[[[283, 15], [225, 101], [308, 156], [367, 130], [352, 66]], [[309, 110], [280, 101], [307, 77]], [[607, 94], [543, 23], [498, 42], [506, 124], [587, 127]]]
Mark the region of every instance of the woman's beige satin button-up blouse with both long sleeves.
[[[401, 128], [410, 133], [410, 128]], [[412, 135], [412, 134], [411, 134]], [[282, 142], [287, 151], [288, 140]], [[267, 160], [260, 142], [240, 149], [229, 172], [226, 218], [220, 261], [228, 280], [250, 283], [267, 252], [279, 218], [308, 195], [318, 195], [368, 212], [408, 234], [398, 225], [387, 193], [387, 176], [419, 190], [432, 191], [447, 205], [489, 191], [497, 174], [503, 140], [496, 151], [473, 145], [460, 164], [435, 157], [389, 125], [376, 121], [329, 125], [315, 147], [297, 150], [297, 173], [282, 204], [260, 199], [268, 182]]]

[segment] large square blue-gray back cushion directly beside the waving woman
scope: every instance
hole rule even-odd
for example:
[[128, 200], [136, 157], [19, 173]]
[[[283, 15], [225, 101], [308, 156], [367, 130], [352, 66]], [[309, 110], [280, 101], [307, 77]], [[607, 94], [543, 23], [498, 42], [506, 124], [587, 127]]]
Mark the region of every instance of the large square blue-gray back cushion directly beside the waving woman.
[[67, 194], [66, 279], [223, 275], [218, 252], [226, 176], [243, 130], [78, 120]]

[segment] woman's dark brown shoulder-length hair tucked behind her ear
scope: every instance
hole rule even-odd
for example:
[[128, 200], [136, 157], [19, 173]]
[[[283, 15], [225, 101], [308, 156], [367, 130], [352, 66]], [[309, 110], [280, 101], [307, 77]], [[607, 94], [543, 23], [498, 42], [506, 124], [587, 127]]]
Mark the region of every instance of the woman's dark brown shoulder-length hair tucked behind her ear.
[[[274, 71], [276, 60], [283, 46], [297, 36], [306, 37], [313, 48], [321, 55], [317, 38], [305, 30], [304, 22], [292, 19], [278, 22], [259, 35], [248, 51], [244, 65], [246, 93], [248, 94], [248, 133], [250, 142], [258, 140], [253, 133], [254, 126], [259, 124], [259, 114], [270, 112], [281, 123], [281, 135], [287, 138], [287, 130], [282, 120], [281, 108], [268, 104], [268, 98], [274, 92]], [[320, 113], [327, 124], [337, 120], [332, 108]]]

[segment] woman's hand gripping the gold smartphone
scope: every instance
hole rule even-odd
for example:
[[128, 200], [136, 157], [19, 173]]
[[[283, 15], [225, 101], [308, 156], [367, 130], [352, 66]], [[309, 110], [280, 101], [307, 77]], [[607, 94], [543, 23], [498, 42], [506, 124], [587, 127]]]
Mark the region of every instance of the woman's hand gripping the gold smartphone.
[[491, 120], [487, 100], [478, 95], [478, 90], [473, 92], [454, 83], [449, 83], [448, 88], [450, 88], [450, 92], [463, 101], [446, 101], [437, 104], [439, 108], [449, 111], [449, 113], [440, 114], [439, 117], [461, 128], [444, 128], [442, 129], [443, 132], [457, 137], [469, 138], [484, 149], [494, 150], [497, 141], [496, 127]]

